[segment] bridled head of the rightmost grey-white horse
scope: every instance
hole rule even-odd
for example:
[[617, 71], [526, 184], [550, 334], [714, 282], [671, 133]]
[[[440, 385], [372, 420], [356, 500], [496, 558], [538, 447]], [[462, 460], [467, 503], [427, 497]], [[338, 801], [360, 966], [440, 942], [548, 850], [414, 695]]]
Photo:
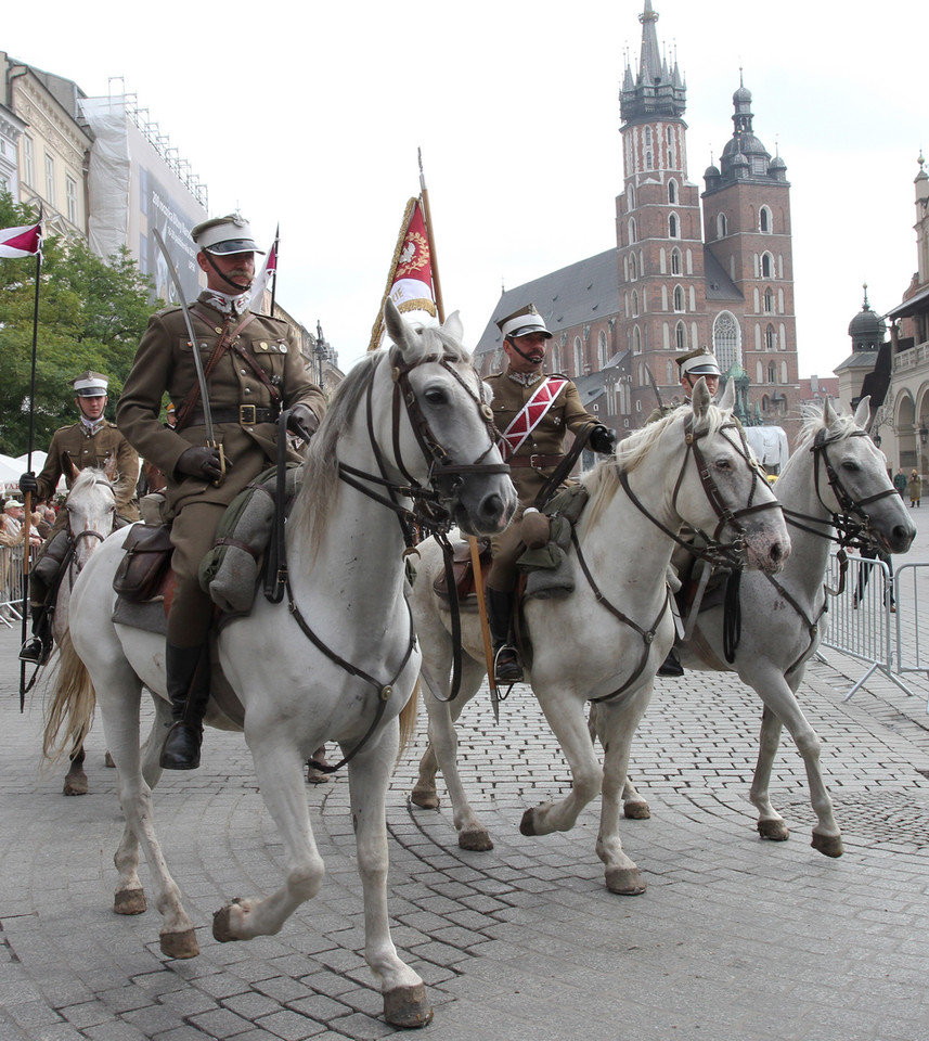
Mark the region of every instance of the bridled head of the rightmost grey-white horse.
[[868, 436], [870, 397], [854, 416], [843, 415], [827, 398], [821, 414], [808, 416], [801, 446], [814, 457], [814, 488], [840, 530], [863, 529], [888, 553], [906, 553], [916, 535], [903, 500], [887, 472], [887, 457]]

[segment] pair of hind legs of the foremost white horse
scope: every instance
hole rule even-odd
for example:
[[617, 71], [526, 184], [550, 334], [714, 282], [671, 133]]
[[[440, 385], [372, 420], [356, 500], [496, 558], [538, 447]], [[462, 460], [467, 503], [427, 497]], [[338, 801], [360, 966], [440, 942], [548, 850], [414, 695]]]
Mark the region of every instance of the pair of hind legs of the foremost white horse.
[[116, 764], [119, 802], [126, 817], [126, 827], [113, 858], [119, 875], [114, 911], [117, 914], [140, 914], [146, 909], [138, 872], [141, 844], [152, 872], [155, 907], [162, 915], [162, 953], [168, 958], [193, 958], [199, 953], [196, 933], [183, 909], [180, 889], [168, 871], [155, 833], [152, 786], [149, 783], [149, 779], [154, 783], [160, 774], [159, 769], [152, 769], [152, 759], [154, 748], [158, 745], [157, 735], [164, 733], [165, 711], [158, 699], [155, 724], [145, 744], [143, 768], [142, 749], [139, 746], [141, 696], [141, 683], [128, 665], [121, 674], [114, 676], [111, 672], [107, 683], [98, 684], [104, 735]]

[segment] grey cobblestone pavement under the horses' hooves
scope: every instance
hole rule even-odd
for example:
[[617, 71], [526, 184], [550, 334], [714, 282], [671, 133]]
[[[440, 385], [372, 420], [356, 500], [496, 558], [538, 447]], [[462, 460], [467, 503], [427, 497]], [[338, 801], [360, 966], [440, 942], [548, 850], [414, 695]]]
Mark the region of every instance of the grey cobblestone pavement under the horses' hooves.
[[[911, 558], [929, 560], [929, 538]], [[202, 947], [167, 960], [154, 911], [111, 910], [122, 824], [102, 728], [88, 741], [90, 794], [64, 798], [63, 771], [40, 772], [41, 697], [18, 712], [17, 642], [0, 632], [0, 1041], [395, 1033], [361, 954], [346, 779], [307, 787], [327, 866], [319, 897], [278, 937], [220, 944], [212, 912], [276, 887], [282, 846], [241, 738], [210, 731], [198, 771], [165, 775], [160, 837]], [[527, 806], [569, 785], [528, 690], [499, 727], [486, 696], [465, 709], [463, 774], [490, 852], [457, 848], [447, 800], [409, 805], [421, 738], [388, 823], [393, 938], [435, 1006], [425, 1037], [929, 1041], [929, 683], [907, 677], [907, 697], [876, 676], [842, 703], [863, 671], [830, 652], [802, 689], [843, 828], [838, 860], [810, 848], [814, 814], [787, 737], [772, 792], [791, 839], [757, 837], [753, 692], [724, 676], [658, 681], [632, 761], [651, 820], [622, 822], [648, 882], [641, 897], [604, 888], [598, 802], [569, 834], [519, 834]]]

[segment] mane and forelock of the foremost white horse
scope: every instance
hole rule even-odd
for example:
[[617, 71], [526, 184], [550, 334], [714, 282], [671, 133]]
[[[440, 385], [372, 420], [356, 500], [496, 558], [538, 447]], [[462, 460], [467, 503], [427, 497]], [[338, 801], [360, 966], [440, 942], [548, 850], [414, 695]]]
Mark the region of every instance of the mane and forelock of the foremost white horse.
[[[412, 349], [405, 352], [407, 363], [420, 364], [450, 358], [452, 361], [470, 362], [470, 352], [444, 330], [426, 326], [418, 330]], [[301, 540], [308, 540], [311, 552], [319, 549], [326, 520], [338, 501], [338, 455], [339, 440], [348, 433], [367, 388], [374, 380], [374, 373], [380, 359], [389, 354], [389, 348], [373, 350], [364, 356], [336, 387], [326, 414], [313, 435], [307, 449], [302, 473], [302, 493], [298, 500], [299, 509], [294, 510], [292, 524], [298, 527]]]

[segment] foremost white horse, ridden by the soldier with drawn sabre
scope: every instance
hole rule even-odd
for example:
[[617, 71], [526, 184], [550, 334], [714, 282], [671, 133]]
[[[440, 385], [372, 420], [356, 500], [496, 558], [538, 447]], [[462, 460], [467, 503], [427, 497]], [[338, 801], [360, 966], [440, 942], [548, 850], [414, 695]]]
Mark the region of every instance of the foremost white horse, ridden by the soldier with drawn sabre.
[[[501, 530], [516, 497], [494, 446], [483, 385], [459, 343], [457, 313], [441, 330], [416, 331], [388, 301], [386, 321], [396, 346], [359, 362], [309, 447], [286, 526], [287, 602], [259, 597], [248, 617], [232, 620], [217, 637], [223, 672], [244, 706], [261, 795], [283, 837], [286, 877], [270, 896], [227, 904], [215, 917], [214, 936], [225, 941], [273, 935], [319, 891], [324, 866], [302, 764], [324, 742], [336, 741], [348, 761], [365, 959], [380, 984], [387, 1020], [412, 1027], [427, 1023], [431, 1010], [421, 977], [400, 960], [390, 938], [385, 821], [398, 717], [407, 706], [405, 722], [415, 720], [411, 695], [420, 671], [404, 597], [404, 539], [420, 506], [439, 518], [444, 509], [475, 532]], [[162, 854], [152, 808], [170, 720], [165, 642], [111, 621], [121, 541], [107, 541], [78, 579], [72, 639], [96, 689], [119, 774], [126, 831], [115, 857], [116, 911], [145, 909], [137, 874], [141, 843], [163, 917], [162, 950], [189, 958], [197, 953], [194, 927]], [[140, 755], [143, 685], [158, 696]], [[231, 727], [215, 703], [207, 722]]]

